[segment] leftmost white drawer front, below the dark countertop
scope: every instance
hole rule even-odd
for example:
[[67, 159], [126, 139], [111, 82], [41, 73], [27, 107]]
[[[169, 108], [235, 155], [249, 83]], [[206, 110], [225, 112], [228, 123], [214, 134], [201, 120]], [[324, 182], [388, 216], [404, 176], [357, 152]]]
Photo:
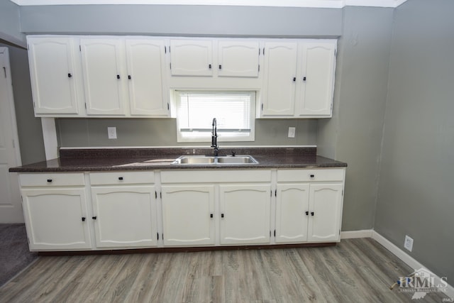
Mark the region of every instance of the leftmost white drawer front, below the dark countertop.
[[19, 174], [21, 187], [84, 186], [83, 172], [49, 172]]

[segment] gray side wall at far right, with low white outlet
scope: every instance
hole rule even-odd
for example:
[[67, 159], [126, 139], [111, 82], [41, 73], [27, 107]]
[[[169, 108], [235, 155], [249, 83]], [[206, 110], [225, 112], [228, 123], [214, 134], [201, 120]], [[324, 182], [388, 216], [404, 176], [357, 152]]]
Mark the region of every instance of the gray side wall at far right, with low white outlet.
[[396, 9], [375, 230], [454, 281], [454, 1]]

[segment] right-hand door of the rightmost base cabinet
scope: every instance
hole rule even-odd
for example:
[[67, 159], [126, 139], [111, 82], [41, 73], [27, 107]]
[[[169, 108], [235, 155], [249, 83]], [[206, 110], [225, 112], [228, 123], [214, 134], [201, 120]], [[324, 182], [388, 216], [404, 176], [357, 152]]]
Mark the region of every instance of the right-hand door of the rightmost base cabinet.
[[342, 184], [311, 184], [308, 241], [338, 241], [341, 233]]

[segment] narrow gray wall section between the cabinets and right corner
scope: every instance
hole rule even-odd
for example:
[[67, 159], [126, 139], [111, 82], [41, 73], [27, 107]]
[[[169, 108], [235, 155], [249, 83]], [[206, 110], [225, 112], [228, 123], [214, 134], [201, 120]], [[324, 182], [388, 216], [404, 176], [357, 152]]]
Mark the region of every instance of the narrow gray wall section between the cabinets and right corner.
[[342, 229], [373, 227], [387, 98], [393, 9], [347, 6], [332, 119], [319, 120], [319, 155], [348, 162]]

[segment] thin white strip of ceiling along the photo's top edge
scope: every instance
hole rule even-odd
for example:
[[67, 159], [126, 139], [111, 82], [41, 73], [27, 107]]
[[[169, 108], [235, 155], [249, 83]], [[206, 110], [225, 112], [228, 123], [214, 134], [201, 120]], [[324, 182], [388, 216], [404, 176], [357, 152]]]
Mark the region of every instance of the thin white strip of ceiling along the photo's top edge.
[[285, 6], [341, 9], [344, 6], [397, 7], [406, 0], [11, 0], [19, 6], [89, 4], [163, 4]]

